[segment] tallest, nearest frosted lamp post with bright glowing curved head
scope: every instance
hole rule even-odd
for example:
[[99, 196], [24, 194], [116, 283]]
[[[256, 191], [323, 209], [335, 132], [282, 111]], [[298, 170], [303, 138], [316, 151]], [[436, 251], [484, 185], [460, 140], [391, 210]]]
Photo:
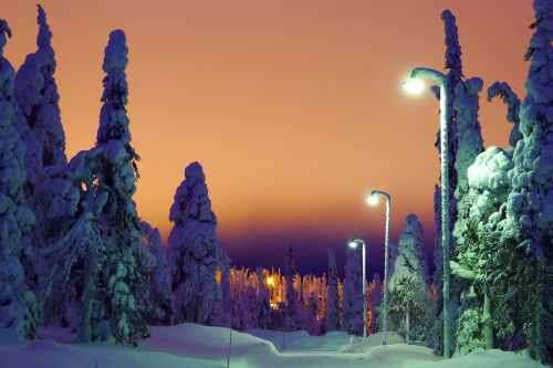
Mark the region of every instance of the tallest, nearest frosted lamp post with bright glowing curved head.
[[[416, 67], [411, 76], [404, 82], [404, 87], [411, 93], [422, 91], [421, 83], [417, 77], [428, 78], [440, 85], [440, 154], [441, 154], [441, 246], [444, 249], [444, 357], [449, 359], [451, 350], [449, 347], [449, 172], [448, 172], [448, 125], [449, 117], [449, 92], [447, 78], [438, 71]], [[417, 86], [418, 83], [418, 86]]]

